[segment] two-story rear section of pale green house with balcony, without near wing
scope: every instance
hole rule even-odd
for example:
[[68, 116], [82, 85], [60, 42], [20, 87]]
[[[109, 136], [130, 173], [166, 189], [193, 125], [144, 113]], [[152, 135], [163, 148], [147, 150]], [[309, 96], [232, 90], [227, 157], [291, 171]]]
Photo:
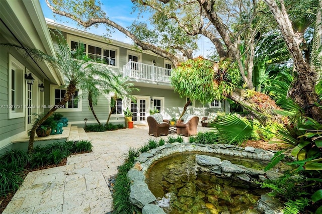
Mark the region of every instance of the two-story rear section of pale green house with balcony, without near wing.
[[[139, 89], [132, 94], [136, 100], [117, 100], [116, 109], [110, 119], [111, 123], [124, 123], [123, 111], [127, 107], [133, 113], [134, 124], [146, 124], [149, 110], [153, 108], [158, 109], [164, 118], [171, 119], [180, 116], [189, 97], [180, 97], [177, 92], [174, 92], [170, 82], [173, 65], [169, 60], [151, 51], [137, 50], [131, 44], [106, 40], [102, 36], [56, 24], [51, 20], [47, 20], [47, 24], [49, 28], [61, 31], [71, 48], [75, 48], [79, 43], [84, 44], [89, 57], [103, 59], [102, 66], [107, 66], [115, 73], [128, 77], [128, 82], [133, 83], [134, 87]], [[64, 89], [59, 89], [57, 85], [50, 85], [50, 90], [45, 92], [46, 97], [50, 98], [48, 100], [50, 104], [54, 104], [55, 100], [59, 101], [59, 96], [63, 93], [59, 93], [58, 90]], [[114, 94], [106, 94], [101, 97], [95, 107], [95, 112], [101, 122], [106, 121], [108, 117], [113, 96]], [[86, 99], [79, 99], [77, 104], [69, 104], [65, 109], [58, 111], [67, 117], [71, 124], [84, 125], [85, 118], [89, 120], [87, 123], [97, 123], [88, 110], [88, 106]], [[199, 117], [208, 115], [208, 112], [217, 111], [229, 112], [228, 102], [214, 100], [203, 106], [197, 100], [192, 100], [188, 108], [188, 113]]]

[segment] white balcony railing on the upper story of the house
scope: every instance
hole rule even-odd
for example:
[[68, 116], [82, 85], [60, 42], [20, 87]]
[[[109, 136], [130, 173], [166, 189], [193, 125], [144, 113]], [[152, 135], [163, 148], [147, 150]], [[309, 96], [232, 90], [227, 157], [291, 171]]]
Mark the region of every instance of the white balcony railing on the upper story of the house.
[[171, 69], [129, 61], [123, 67], [124, 76], [170, 83]]

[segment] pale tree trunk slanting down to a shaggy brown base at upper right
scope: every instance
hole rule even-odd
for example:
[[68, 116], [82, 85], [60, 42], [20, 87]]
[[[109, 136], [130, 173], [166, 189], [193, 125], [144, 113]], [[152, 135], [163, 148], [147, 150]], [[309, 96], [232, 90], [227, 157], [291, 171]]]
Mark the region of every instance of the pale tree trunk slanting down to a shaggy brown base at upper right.
[[292, 24], [287, 15], [285, 6], [281, 1], [281, 9], [275, 0], [264, 0], [270, 8], [278, 27], [281, 30], [283, 39], [288, 47], [294, 61], [294, 81], [292, 82], [288, 96], [291, 97], [305, 111], [305, 115], [316, 121], [322, 121], [322, 110], [318, 95], [315, 92], [316, 72], [305, 61], [302, 52], [297, 44], [297, 35], [295, 35]]

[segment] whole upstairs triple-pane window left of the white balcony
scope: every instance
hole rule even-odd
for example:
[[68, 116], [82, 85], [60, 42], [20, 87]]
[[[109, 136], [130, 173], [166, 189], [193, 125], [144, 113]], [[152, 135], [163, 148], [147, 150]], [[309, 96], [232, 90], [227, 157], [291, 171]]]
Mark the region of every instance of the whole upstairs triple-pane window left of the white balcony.
[[70, 48], [76, 50], [79, 46], [83, 47], [83, 53], [89, 58], [110, 65], [119, 67], [119, 48], [104, 43], [77, 38], [67, 35], [67, 41], [70, 41]]

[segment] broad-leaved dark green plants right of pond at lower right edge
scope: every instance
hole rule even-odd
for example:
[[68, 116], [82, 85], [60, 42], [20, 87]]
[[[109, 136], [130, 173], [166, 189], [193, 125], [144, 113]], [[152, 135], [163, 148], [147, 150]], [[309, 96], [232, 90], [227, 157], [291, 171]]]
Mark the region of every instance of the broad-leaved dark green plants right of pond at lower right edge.
[[[288, 163], [293, 166], [293, 170], [290, 171], [291, 176], [288, 179], [297, 179], [296, 185], [289, 188], [288, 192], [297, 192], [297, 194], [294, 194], [295, 196], [292, 198], [285, 198], [287, 202], [284, 210], [287, 212], [292, 207], [293, 211], [305, 209], [322, 213], [322, 206], [318, 205], [322, 201], [322, 179], [320, 177], [322, 172], [322, 125], [298, 113], [294, 115], [296, 115], [293, 120], [294, 123], [286, 124], [285, 129], [280, 129], [277, 132], [279, 142], [291, 145], [291, 155], [296, 158], [296, 161]], [[277, 152], [265, 170], [274, 167], [284, 157], [282, 151]], [[285, 177], [281, 179], [285, 179]], [[281, 182], [273, 185], [264, 184], [264, 186], [273, 187], [272, 189], [275, 189], [276, 193], [283, 188], [279, 183]], [[298, 194], [299, 192], [302, 192], [302, 194]], [[292, 194], [279, 194], [279, 196], [286, 195]], [[305, 205], [299, 203], [299, 201], [307, 201], [307, 203]]]

